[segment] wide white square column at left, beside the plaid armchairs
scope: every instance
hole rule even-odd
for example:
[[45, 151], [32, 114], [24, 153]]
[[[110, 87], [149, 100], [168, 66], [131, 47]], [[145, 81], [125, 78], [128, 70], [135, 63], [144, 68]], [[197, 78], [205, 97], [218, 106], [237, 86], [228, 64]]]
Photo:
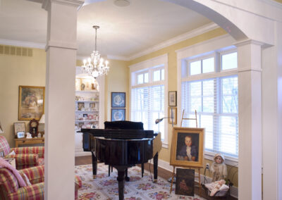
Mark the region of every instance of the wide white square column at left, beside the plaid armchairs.
[[48, 11], [45, 199], [74, 199], [77, 8], [83, 0], [45, 0]]

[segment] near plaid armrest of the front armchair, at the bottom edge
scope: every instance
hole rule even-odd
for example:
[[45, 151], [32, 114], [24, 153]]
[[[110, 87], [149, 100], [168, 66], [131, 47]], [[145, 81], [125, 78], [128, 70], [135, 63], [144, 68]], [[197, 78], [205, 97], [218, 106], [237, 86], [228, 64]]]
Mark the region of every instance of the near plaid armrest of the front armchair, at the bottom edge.
[[44, 182], [27, 187], [20, 187], [17, 192], [8, 194], [8, 199], [44, 200]]

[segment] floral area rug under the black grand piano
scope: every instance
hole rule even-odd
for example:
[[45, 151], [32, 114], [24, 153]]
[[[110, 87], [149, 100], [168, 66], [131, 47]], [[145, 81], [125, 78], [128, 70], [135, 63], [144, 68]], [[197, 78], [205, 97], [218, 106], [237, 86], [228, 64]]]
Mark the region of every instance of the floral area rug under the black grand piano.
[[[118, 200], [118, 171], [114, 168], [113, 173], [108, 176], [108, 165], [98, 164], [97, 176], [93, 179], [92, 165], [75, 166], [75, 174], [82, 180], [82, 188], [78, 191], [79, 200]], [[158, 182], [152, 182], [151, 175], [145, 170], [144, 177], [141, 177], [141, 168], [135, 166], [128, 168], [129, 182], [125, 182], [124, 199], [145, 200], [145, 199], [190, 199], [204, 200], [200, 196], [180, 196], [173, 191], [169, 193], [171, 185], [167, 180], [158, 177]], [[152, 177], [153, 177], [152, 173]]]

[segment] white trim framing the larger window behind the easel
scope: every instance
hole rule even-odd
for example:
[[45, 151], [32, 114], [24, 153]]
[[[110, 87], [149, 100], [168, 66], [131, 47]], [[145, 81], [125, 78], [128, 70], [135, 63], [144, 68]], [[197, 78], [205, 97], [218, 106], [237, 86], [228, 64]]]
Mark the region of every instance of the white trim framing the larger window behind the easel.
[[[181, 82], [183, 81], [191, 81], [191, 80], [199, 80], [199, 79], [207, 79], [212, 77], [219, 77], [219, 76], [228, 76], [228, 75], [235, 75], [238, 74], [238, 68], [237, 69], [231, 69], [231, 70], [223, 70], [220, 73], [204, 73], [200, 75], [192, 75], [188, 77], [181, 77], [182, 76], [182, 62], [184, 58], [197, 58], [195, 55], [199, 54], [205, 54], [206, 52], [209, 52], [209, 54], [221, 54], [221, 52], [227, 52], [228, 49], [233, 48], [227, 48], [226, 46], [231, 46], [235, 43], [235, 40], [230, 35], [223, 35], [220, 37], [216, 37], [213, 39], [209, 39], [205, 42], [201, 42], [192, 46], [185, 47], [183, 49], [178, 49], [176, 51], [177, 54], [177, 104], [178, 107], [181, 108]], [[216, 52], [214, 49], [218, 49]], [[227, 50], [227, 51], [226, 51]], [[233, 51], [233, 50], [231, 50]], [[187, 59], [186, 59], [187, 61]], [[221, 62], [221, 61], [220, 61]], [[181, 119], [182, 111], [178, 109], [177, 113], [178, 119]], [[238, 113], [239, 116], [239, 113]], [[180, 121], [178, 120], [178, 127], [180, 127]], [[239, 133], [238, 133], [239, 134]], [[215, 152], [211, 151], [204, 151], [204, 158], [207, 160], [214, 160]], [[231, 156], [225, 156], [226, 158], [226, 164], [227, 165], [238, 165], [238, 159], [239, 158], [233, 158]]]

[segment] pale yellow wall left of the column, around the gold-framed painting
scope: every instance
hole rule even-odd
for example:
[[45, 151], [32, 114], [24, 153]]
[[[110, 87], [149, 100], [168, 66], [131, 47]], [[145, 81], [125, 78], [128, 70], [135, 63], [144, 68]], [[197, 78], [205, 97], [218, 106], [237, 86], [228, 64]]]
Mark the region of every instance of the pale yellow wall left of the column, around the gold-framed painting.
[[32, 57], [0, 55], [0, 121], [10, 146], [15, 145], [13, 123], [29, 123], [18, 120], [18, 86], [45, 86], [45, 69], [43, 49], [33, 49]]

